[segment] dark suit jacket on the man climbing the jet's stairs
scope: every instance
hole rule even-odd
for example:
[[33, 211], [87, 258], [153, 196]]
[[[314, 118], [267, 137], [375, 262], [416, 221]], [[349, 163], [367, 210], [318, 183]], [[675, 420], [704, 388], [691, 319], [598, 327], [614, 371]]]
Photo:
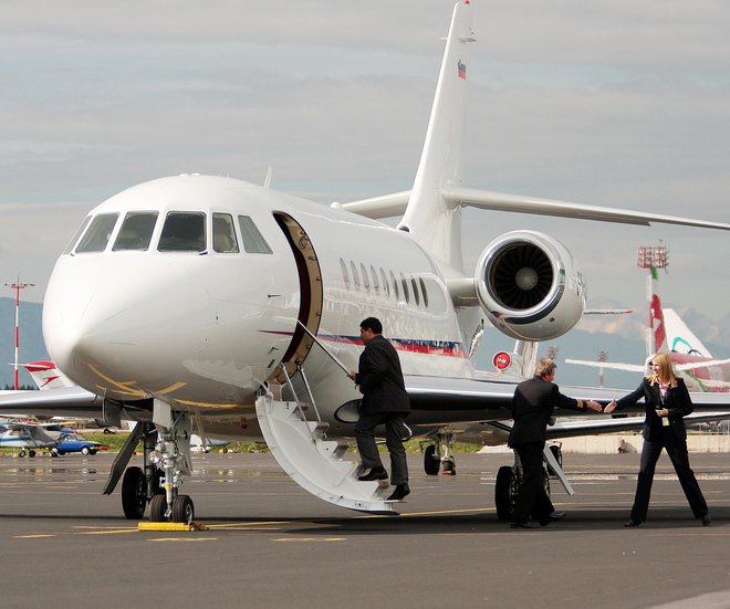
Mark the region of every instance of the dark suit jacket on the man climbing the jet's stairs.
[[398, 353], [382, 335], [374, 336], [365, 345], [359, 356], [355, 384], [359, 385], [363, 393], [361, 414], [410, 412]]

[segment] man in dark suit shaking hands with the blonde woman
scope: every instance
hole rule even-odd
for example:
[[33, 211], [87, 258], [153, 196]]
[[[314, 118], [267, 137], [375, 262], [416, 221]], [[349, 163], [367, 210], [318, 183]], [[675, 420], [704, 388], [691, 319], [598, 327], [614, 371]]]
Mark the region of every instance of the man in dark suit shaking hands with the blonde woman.
[[[565, 516], [556, 513], [542, 483], [542, 451], [545, 429], [555, 407], [573, 410], [602, 411], [598, 402], [575, 400], [563, 396], [553, 384], [556, 365], [552, 359], [538, 361], [535, 376], [517, 386], [512, 400], [514, 424], [508, 444], [522, 464], [522, 484], [512, 510], [511, 528], [536, 528]], [[540, 524], [530, 522], [530, 516]]]

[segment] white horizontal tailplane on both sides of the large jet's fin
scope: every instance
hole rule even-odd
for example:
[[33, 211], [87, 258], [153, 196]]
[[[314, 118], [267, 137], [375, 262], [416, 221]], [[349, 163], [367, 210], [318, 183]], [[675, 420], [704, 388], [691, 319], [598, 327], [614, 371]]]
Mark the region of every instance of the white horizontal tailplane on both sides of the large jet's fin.
[[[336, 209], [344, 209], [367, 218], [390, 218], [401, 216], [406, 211], [410, 191], [374, 197], [351, 203], [333, 203]], [[630, 209], [618, 209], [598, 206], [586, 206], [570, 201], [525, 197], [507, 192], [493, 192], [474, 188], [451, 187], [441, 190], [441, 197], [455, 207], [468, 206], [492, 211], [510, 211], [512, 213], [532, 213], [535, 216], [553, 216], [557, 218], [574, 218], [577, 220], [595, 220], [601, 222], [617, 222], [620, 224], [638, 224], [648, 227], [651, 223], [679, 224], [705, 229], [730, 230], [730, 224], [710, 222], [678, 216], [647, 213]]]

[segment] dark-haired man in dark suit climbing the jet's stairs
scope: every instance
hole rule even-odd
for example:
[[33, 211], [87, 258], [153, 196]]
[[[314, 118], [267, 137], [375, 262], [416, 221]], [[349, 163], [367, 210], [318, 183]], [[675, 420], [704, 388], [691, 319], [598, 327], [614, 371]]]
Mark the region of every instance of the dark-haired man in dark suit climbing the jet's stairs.
[[363, 393], [355, 438], [363, 468], [369, 471], [357, 480], [388, 477], [375, 443], [375, 428], [385, 424], [385, 443], [390, 453], [390, 483], [395, 484], [388, 500], [400, 501], [410, 493], [406, 449], [403, 445], [404, 438], [410, 434], [404, 420], [410, 412], [410, 403], [400, 360], [395, 347], [383, 337], [383, 324], [376, 317], [363, 319], [359, 337], [365, 350], [359, 356], [357, 372], [347, 376]]

